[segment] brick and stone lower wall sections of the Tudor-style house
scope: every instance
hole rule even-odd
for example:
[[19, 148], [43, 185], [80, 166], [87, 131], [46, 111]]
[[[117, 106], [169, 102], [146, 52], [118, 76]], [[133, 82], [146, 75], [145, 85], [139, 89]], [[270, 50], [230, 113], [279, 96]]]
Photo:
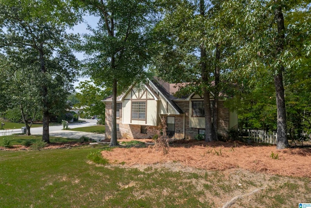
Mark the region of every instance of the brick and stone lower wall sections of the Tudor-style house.
[[[178, 106], [185, 112], [185, 138], [194, 139], [198, 134], [198, 129], [189, 128], [189, 101], [178, 101]], [[164, 115], [166, 119], [167, 115]], [[184, 115], [169, 115], [175, 117], [175, 135], [174, 138], [184, 138]], [[229, 128], [229, 110], [225, 108], [224, 102], [219, 101], [219, 113], [218, 113], [218, 132], [224, 137], [227, 137]], [[111, 138], [111, 123], [112, 123], [112, 109], [111, 103], [106, 103], [105, 107], [105, 138]], [[122, 118], [117, 118], [117, 124], [119, 124], [119, 131], [117, 131], [117, 138], [153, 138], [157, 132], [156, 126], [147, 127], [147, 134], [140, 133], [140, 125], [122, 124]]]

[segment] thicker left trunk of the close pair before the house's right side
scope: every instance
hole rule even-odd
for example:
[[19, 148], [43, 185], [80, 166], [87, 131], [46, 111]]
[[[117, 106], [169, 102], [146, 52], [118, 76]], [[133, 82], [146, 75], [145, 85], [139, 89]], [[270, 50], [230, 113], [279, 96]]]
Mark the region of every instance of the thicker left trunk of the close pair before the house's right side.
[[[200, 0], [200, 15], [205, 17], [205, 5], [204, 0]], [[207, 71], [206, 64], [206, 49], [204, 44], [202, 43], [200, 47], [201, 54], [201, 75], [203, 82], [203, 96], [204, 96], [204, 111], [205, 111], [205, 141], [210, 142], [213, 141], [213, 124], [212, 124], [212, 115], [210, 109], [210, 90], [209, 90], [209, 72]]]

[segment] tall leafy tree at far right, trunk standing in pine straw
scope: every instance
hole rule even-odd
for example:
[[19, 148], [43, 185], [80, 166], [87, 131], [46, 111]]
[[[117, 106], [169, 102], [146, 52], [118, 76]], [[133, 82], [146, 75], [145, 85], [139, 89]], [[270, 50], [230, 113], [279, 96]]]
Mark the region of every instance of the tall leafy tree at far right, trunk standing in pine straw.
[[240, 74], [263, 68], [274, 80], [278, 138], [276, 148], [286, 148], [284, 74], [295, 69], [299, 65], [297, 63], [306, 57], [310, 58], [308, 1], [226, 1], [224, 10], [228, 18], [236, 20], [234, 29], [241, 31], [240, 36], [243, 37], [239, 42], [239, 51], [232, 58], [245, 61], [242, 70], [238, 70]]

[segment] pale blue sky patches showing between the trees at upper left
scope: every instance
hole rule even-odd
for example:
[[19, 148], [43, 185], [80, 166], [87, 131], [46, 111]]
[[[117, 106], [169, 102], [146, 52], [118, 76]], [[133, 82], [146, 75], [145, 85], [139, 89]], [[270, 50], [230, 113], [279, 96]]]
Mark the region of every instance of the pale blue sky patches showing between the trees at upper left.
[[[68, 33], [74, 33], [74, 34], [77, 34], [77, 33], [79, 33], [79, 34], [90, 33], [90, 31], [87, 30], [87, 25], [91, 26], [92, 28], [96, 28], [97, 22], [99, 20], [98, 17], [94, 17], [94, 16], [85, 16], [84, 19], [85, 19], [86, 23], [84, 23], [84, 22], [80, 23], [80, 24], [74, 26], [73, 30], [68, 30], [67, 32]], [[84, 59], [84, 53], [74, 53], [74, 54], [77, 57], [77, 59], [79, 59], [79, 60], [83, 60]], [[73, 83], [74, 88], [79, 85], [79, 82], [86, 81], [86, 80], [89, 80], [89, 78], [87, 78], [87, 77], [79, 78], [78, 81]], [[77, 90], [77, 89], [75, 89], [75, 90], [77, 92], [79, 92], [79, 90]]]

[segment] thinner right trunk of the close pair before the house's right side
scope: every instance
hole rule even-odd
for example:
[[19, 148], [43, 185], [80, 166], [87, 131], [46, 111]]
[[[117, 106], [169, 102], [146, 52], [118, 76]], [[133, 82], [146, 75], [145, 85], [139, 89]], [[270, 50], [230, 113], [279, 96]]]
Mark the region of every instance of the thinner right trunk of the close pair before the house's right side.
[[219, 76], [220, 76], [220, 45], [216, 44], [215, 54], [215, 88], [214, 88], [214, 101], [213, 101], [213, 133], [214, 140], [218, 141], [218, 100], [219, 100]]

